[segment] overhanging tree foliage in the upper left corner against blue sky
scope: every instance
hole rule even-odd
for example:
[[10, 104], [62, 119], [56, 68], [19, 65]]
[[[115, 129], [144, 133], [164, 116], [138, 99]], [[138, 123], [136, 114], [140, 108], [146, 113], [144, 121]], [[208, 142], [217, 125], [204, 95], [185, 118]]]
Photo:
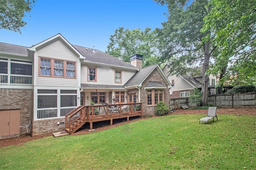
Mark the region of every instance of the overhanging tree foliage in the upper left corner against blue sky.
[[22, 20], [29, 13], [35, 0], [0, 0], [0, 29], [18, 31], [26, 25]]

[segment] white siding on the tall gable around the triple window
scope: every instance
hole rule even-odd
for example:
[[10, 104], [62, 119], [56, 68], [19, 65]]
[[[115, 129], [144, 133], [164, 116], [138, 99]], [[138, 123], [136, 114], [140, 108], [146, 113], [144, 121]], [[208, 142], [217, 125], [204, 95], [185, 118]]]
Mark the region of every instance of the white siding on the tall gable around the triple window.
[[[52, 59], [62, 59], [66, 61], [76, 62], [76, 79], [73, 78], [55, 78], [55, 77], [44, 77], [38, 76], [38, 59], [39, 57], [47, 57]], [[78, 83], [78, 68], [79, 59], [78, 57], [66, 47], [60, 40], [54, 41], [53, 43], [43, 47], [36, 51], [36, 86], [68, 86], [68, 87], [79, 87]]]

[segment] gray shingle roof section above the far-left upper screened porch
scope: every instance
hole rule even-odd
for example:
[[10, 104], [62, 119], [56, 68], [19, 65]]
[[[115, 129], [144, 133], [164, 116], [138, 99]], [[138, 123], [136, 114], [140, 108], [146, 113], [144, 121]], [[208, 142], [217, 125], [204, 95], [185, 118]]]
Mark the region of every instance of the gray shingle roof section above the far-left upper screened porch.
[[18, 55], [28, 55], [27, 47], [6, 43], [0, 43], [0, 52]]

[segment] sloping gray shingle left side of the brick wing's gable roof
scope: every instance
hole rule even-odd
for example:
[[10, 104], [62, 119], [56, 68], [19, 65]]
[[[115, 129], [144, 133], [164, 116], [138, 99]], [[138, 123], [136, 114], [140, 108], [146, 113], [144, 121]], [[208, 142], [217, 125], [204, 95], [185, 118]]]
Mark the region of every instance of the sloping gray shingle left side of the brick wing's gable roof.
[[136, 72], [128, 82], [124, 86], [130, 87], [130, 86], [136, 86], [140, 84], [147, 76], [148, 74], [156, 68], [157, 64], [154, 64], [152, 66], [148, 66], [145, 68], [142, 68], [140, 71]]

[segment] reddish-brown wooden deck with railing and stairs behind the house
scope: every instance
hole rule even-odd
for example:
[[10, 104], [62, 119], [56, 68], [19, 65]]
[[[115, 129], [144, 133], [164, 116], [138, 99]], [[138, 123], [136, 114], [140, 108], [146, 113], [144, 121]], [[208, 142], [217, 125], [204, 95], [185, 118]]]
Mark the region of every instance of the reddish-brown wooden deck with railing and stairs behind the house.
[[142, 103], [132, 104], [107, 104], [95, 106], [80, 106], [66, 115], [65, 130], [68, 133], [74, 133], [86, 122], [90, 123], [90, 130], [93, 129], [92, 123], [96, 121], [142, 116]]

